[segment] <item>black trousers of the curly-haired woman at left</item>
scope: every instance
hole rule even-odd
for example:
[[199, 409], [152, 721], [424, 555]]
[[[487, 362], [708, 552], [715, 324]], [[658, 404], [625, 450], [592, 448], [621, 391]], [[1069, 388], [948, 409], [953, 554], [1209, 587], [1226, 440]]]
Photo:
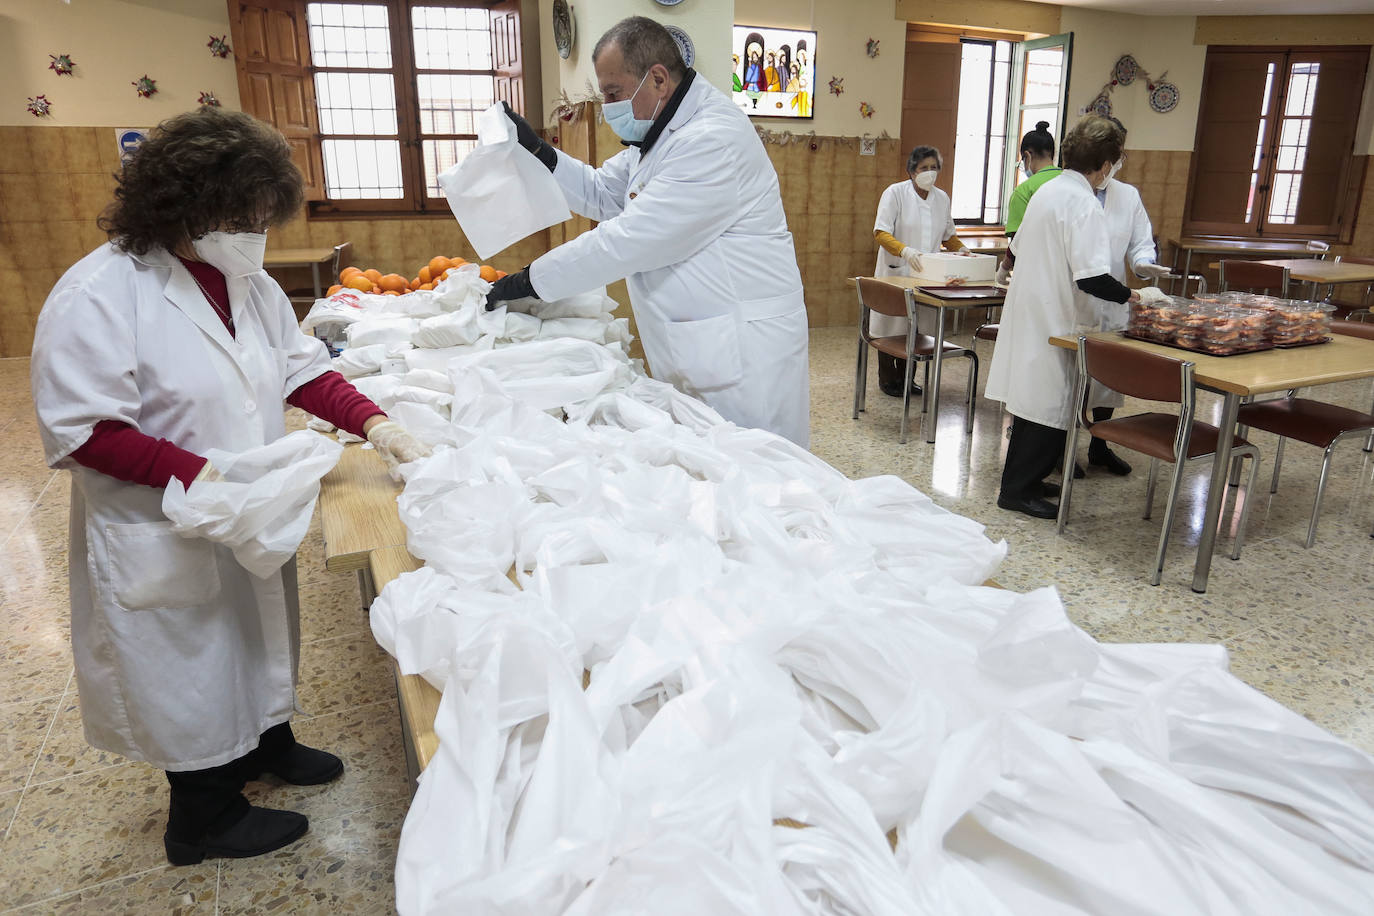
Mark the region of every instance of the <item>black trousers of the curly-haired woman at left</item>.
[[262, 732], [258, 746], [235, 761], [209, 769], [168, 770], [172, 787], [168, 834], [194, 842], [234, 825], [249, 810], [243, 784], [269, 769], [294, 744], [291, 724], [282, 722]]

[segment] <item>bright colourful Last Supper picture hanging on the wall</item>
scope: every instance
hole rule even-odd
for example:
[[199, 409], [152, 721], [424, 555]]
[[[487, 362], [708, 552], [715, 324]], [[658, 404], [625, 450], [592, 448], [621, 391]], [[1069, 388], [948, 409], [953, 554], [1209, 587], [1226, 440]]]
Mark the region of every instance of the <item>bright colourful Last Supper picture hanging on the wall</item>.
[[731, 98], [756, 118], [809, 118], [816, 91], [816, 33], [735, 26]]

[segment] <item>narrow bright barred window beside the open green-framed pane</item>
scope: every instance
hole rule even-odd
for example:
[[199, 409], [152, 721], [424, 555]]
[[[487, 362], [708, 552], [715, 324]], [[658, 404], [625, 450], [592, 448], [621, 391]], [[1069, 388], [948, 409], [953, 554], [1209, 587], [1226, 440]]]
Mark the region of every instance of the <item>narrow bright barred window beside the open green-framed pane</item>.
[[965, 38], [960, 44], [951, 209], [956, 222], [995, 225], [1002, 221], [1011, 43]]

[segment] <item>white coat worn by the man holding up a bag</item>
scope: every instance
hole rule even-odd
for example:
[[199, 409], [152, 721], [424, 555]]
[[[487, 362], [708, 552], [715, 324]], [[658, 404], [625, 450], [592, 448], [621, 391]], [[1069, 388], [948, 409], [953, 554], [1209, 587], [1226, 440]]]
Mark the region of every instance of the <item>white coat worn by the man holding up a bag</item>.
[[628, 279], [654, 376], [727, 420], [807, 446], [807, 304], [778, 174], [749, 118], [695, 77], [647, 155], [558, 154], [569, 206], [598, 220], [530, 265], [545, 299]]

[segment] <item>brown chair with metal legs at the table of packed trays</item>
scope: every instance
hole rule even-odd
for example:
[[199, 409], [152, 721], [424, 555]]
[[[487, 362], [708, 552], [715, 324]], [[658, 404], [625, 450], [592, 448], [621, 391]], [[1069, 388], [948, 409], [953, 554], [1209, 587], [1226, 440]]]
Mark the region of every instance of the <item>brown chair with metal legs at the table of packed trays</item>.
[[[1139, 350], [1116, 341], [1079, 338], [1079, 386], [1074, 404], [1073, 428], [1063, 450], [1063, 482], [1059, 493], [1059, 533], [1069, 522], [1069, 496], [1073, 490], [1073, 459], [1077, 449], [1079, 430], [1113, 442], [1150, 459], [1150, 481], [1145, 490], [1145, 518], [1154, 508], [1154, 488], [1158, 479], [1160, 461], [1173, 464], [1173, 478], [1169, 483], [1169, 499], [1164, 509], [1164, 525], [1160, 530], [1160, 547], [1154, 556], [1154, 571], [1150, 585], [1158, 585], [1164, 574], [1164, 553], [1169, 544], [1169, 529], [1178, 509], [1179, 489], [1183, 482], [1186, 461], [1210, 459], [1216, 452], [1220, 431], [1210, 423], [1194, 420], [1197, 389], [1193, 385], [1191, 361]], [[1106, 387], [1145, 401], [1165, 401], [1179, 405], [1179, 415], [1136, 413], [1110, 420], [1092, 422], [1088, 409], [1090, 380], [1098, 380]], [[1241, 437], [1231, 444], [1231, 453], [1250, 459], [1250, 483], [1245, 504], [1241, 508], [1241, 523], [1235, 531], [1231, 559], [1239, 559], [1245, 542], [1245, 523], [1250, 515], [1250, 494], [1254, 493], [1254, 471], [1260, 461], [1259, 450]], [[1223, 483], [1224, 486], [1224, 483]], [[1237, 497], [1239, 499], [1239, 497]]]

